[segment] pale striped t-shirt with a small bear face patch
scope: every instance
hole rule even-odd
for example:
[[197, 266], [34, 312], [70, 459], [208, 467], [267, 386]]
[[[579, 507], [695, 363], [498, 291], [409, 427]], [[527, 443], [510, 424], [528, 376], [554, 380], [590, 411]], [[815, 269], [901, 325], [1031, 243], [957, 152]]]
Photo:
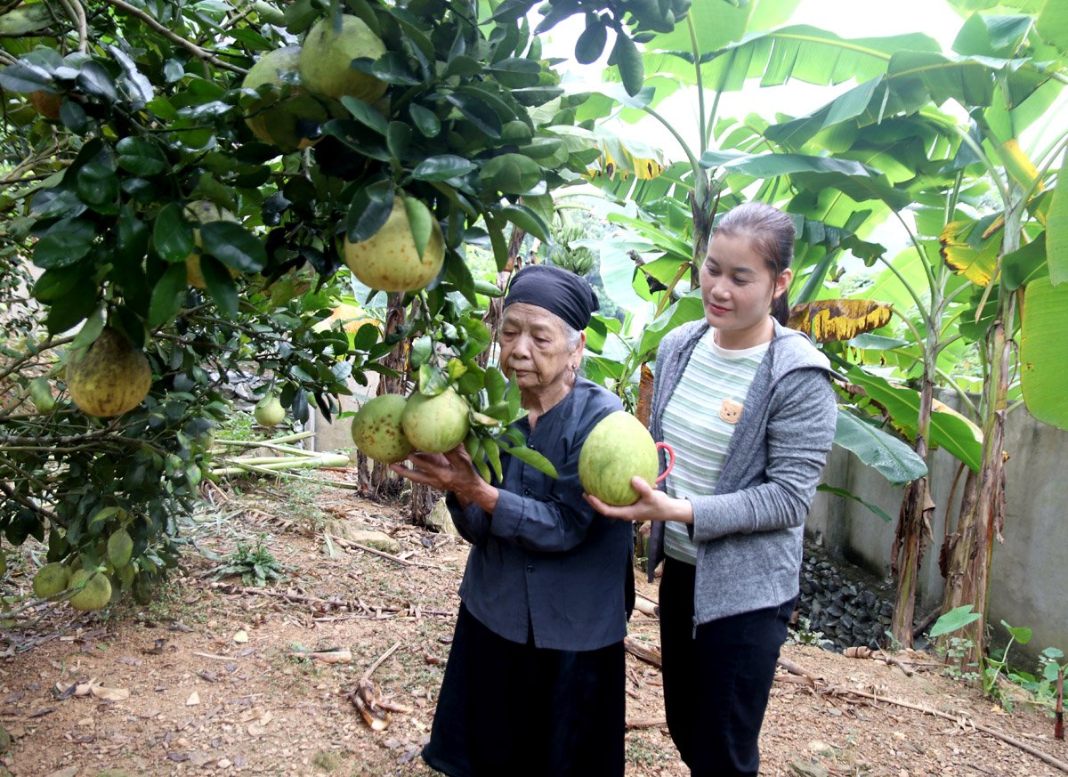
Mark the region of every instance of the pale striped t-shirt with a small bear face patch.
[[[670, 496], [702, 496], [716, 490], [745, 394], [768, 351], [768, 343], [741, 350], [720, 348], [714, 335], [716, 330], [709, 329], [697, 343], [664, 407], [663, 438], [675, 450], [675, 466], [664, 482]], [[664, 553], [696, 562], [696, 546], [686, 524], [664, 524]]]

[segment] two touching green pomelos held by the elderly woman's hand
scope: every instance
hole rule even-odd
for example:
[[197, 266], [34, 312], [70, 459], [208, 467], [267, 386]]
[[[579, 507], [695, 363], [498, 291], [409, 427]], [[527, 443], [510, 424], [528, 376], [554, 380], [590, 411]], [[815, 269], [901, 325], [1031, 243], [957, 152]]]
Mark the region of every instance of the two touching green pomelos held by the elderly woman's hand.
[[352, 441], [370, 459], [403, 461], [412, 450], [443, 454], [467, 437], [470, 406], [452, 388], [436, 397], [382, 394], [363, 403], [352, 418]]

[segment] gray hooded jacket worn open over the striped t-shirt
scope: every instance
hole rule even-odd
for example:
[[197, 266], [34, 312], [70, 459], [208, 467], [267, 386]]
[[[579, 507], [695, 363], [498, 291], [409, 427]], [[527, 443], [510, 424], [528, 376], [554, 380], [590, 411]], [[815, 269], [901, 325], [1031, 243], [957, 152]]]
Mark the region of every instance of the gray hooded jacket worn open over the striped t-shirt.
[[[664, 407], [707, 331], [706, 321], [693, 321], [660, 344], [649, 423], [656, 440], [663, 440]], [[697, 544], [695, 623], [797, 596], [804, 520], [834, 439], [837, 405], [829, 366], [805, 335], [775, 322], [716, 490], [690, 497], [690, 536]], [[660, 463], [662, 471], [663, 451]], [[650, 582], [663, 558], [663, 532], [662, 522], [653, 523]]]

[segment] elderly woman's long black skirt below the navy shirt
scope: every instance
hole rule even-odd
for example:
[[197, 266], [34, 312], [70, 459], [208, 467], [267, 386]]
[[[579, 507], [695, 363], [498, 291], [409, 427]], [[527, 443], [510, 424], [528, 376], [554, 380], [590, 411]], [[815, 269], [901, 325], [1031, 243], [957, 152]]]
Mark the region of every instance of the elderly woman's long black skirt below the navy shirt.
[[460, 605], [423, 760], [450, 777], [623, 777], [623, 643], [508, 641]]

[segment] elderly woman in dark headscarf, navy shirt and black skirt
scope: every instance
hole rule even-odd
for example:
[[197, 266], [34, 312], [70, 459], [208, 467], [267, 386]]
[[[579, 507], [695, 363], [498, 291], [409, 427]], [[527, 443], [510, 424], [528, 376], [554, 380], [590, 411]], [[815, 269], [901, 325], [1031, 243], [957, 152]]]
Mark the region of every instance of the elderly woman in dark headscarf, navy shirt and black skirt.
[[631, 527], [583, 498], [579, 451], [621, 409], [579, 377], [597, 297], [580, 276], [533, 265], [504, 300], [501, 369], [519, 386], [527, 445], [559, 478], [503, 457], [486, 482], [462, 446], [413, 454], [394, 472], [447, 492], [471, 542], [426, 763], [455, 777], [618, 777]]

